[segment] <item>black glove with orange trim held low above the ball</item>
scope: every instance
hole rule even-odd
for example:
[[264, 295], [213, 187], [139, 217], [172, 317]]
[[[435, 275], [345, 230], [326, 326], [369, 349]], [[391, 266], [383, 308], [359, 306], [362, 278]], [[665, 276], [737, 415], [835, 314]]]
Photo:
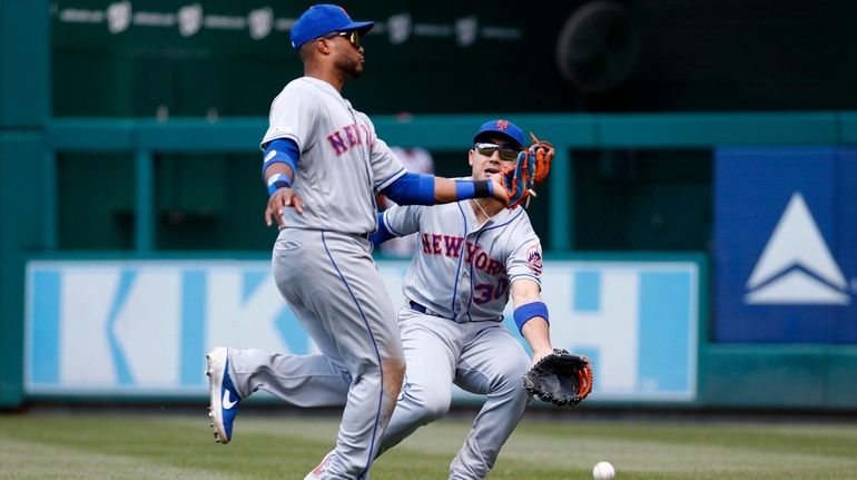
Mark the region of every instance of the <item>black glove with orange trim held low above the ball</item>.
[[592, 391], [589, 359], [553, 349], [526, 372], [524, 390], [556, 406], [574, 406]]

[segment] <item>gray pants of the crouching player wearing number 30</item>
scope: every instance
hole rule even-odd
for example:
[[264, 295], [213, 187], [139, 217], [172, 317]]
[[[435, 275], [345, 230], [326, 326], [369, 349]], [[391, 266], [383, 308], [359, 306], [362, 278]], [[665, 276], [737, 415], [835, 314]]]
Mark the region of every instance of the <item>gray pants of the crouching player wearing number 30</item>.
[[484, 479], [526, 408], [530, 356], [501, 323], [455, 323], [407, 307], [398, 320], [407, 371], [381, 452], [446, 414], [454, 382], [486, 400], [450, 464], [450, 480]]

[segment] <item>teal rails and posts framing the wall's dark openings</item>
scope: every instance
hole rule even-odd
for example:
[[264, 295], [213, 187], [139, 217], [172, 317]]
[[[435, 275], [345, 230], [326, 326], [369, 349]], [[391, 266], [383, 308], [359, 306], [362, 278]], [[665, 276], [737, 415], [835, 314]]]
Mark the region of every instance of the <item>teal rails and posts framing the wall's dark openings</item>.
[[[498, 114], [505, 115], [505, 114]], [[540, 212], [551, 225], [546, 244], [555, 253], [575, 251], [572, 244], [575, 224], [571, 213], [580, 198], [573, 189], [575, 151], [600, 149], [710, 149], [719, 145], [850, 145], [857, 140], [857, 114], [688, 114], [688, 115], [598, 115], [559, 116], [524, 115], [523, 125], [551, 138], [560, 150], [554, 160], [550, 194], [539, 197]], [[401, 121], [394, 117], [376, 118], [380, 135], [397, 145], [421, 145], [437, 150], [452, 150], [466, 145], [469, 127], [483, 116], [425, 116]], [[246, 169], [245, 182], [227, 170], [217, 188], [250, 192], [258, 186], [255, 145], [264, 119], [229, 119], [211, 123], [205, 119], [183, 119], [158, 123], [124, 119], [55, 119], [46, 121], [42, 133], [4, 134], [3, 158], [3, 310], [2, 310], [2, 385], [3, 408], [16, 408], [29, 400], [21, 383], [21, 339], [23, 264], [28, 258], [184, 258], [199, 257], [199, 249], [169, 249], [159, 244], [157, 229], [159, 197], [165, 195], [157, 185], [158, 161], [161, 156], [183, 155], [229, 156], [234, 172]], [[431, 133], [431, 134], [426, 134]], [[205, 150], [188, 138], [207, 138]], [[61, 204], [69, 197], [56, 182], [62, 177], [66, 163], [93, 161], [109, 154], [104, 168], [121, 173], [120, 190], [127, 195], [122, 206], [129, 213], [125, 245], [115, 248], [58, 247], [61, 228]], [[68, 157], [66, 157], [68, 155]], [[20, 161], [29, 158], [28, 161]], [[180, 161], [180, 160], [176, 160]], [[688, 160], [690, 161], [690, 160]], [[97, 176], [98, 170], [89, 175]], [[95, 184], [95, 186], [98, 186]], [[105, 186], [105, 188], [108, 188]], [[214, 188], [214, 187], [211, 187]], [[260, 187], [259, 187], [260, 188]], [[207, 190], [206, 190], [207, 192]], [[91, 195], [97, 196], [98, 192]], [[256, 198], [262, 205], [264, 197]], [[98, 203], [98, 202], [96, 202]], [[228, 203], [228, 202], [226, 202]], [[81, 209], [87, 206], [80, 200]], [[225, 204], [224, 204], [225, 205]], [[223, 206], [223, 205], [221, 205]], [[223, 206], [223, 208], [226, 208]], [[225, 209], [226, 210], [226, 209]], [[224, 210], [224, 212], [225, 212]], [[253, 212], [253, 208], [249, 208]], [[236, 213], [237, 215], [238, 213]], [[70, 214], [65, 214], [66, 216]], [[72, 215], [82, 228], [92, 219], [86, 212]], [[250, 216], [246, 212], [240, 215]], [[200, 222], [204, 221], [200, 219]], [[255, 222], [255, 221], [254, 221]], [[272, 234], [265, 234], [273, 241]], [[256, 252], [269, 247], [266, 243]], [[234, 249], [208, 249], [208, 255], [230, 257]], [[700, 251], [705, 258], [708, 253]], [[621, 256], [658, 262], [670, 258], [668, 252], [604, 253], [607, 258]], [[201, 256], [206, 256], [205, 254]], [[707, 262], [706, 262], [707, 263]], [[698, 395], [693, 402], [669, 404], [670, 408], [692, 406], [713, 409], [806, 409], [854, 410], [857, 405], [857, 347], [853, 345], [778, 345], [717, 344], [710, 341], [710, 275], [703, 268], [699, 284], [700, 325], [698, 350]], [[795, 385], [809, 385], [796, 389]], [[607, 402], [610, 403], [610, 402]], [[622, 406], [643, 406], [628, 405]], [[652, 404], [647, 404], [650, 408]], [[657, 405], [656, 405], [657, 406]]]

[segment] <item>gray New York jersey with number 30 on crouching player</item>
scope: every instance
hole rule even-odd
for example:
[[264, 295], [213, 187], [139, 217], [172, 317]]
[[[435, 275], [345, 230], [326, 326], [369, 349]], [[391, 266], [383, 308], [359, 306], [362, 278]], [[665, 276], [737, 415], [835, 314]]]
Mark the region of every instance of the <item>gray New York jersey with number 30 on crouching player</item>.
[[502, 320], [511, 282], [541, 284], [541, 243], [521, 207], [480, 227], [469, 200], [396, 206], [384, 212], [384, 224], [396, 236], [420, 233], [404, 294], [446, 319]]

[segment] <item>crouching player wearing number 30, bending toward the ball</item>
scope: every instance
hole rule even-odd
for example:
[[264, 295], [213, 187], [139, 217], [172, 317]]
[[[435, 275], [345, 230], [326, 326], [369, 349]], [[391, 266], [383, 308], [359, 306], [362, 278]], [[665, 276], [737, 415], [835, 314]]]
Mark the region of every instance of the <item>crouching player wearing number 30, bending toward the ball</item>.
[[[487, 121], [469, 151], [472, 179], [515, 164], [523, 133], [508, 120]], [[484, 479], [528, 403], [522, 378], [552, 350], [541, 301], [542, 248], [522, 208], [493, 199], [437, 206], [394, 206], [380, 216], [374, 243], [417, 233], [420, 246], [404, 283], [398, 322], [407, 363], [405, 382], [381, 452], [443, 417], [452, 384], [486, 395], [450, 479]], [[509, 297], [534, 360], [502, 324]]]

